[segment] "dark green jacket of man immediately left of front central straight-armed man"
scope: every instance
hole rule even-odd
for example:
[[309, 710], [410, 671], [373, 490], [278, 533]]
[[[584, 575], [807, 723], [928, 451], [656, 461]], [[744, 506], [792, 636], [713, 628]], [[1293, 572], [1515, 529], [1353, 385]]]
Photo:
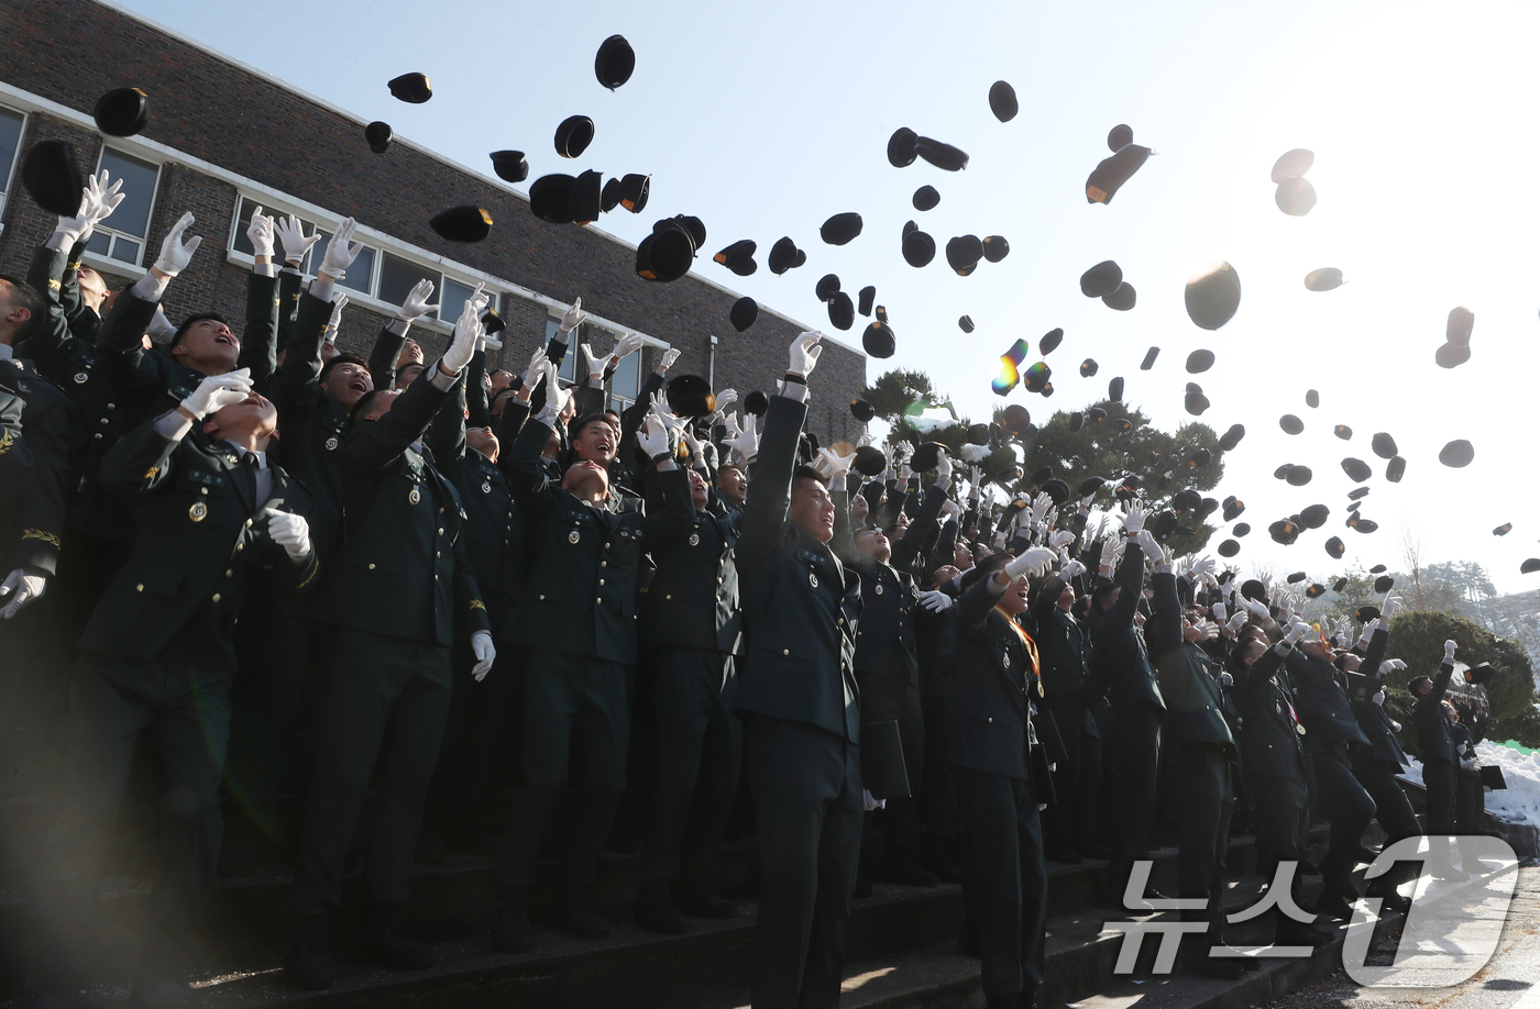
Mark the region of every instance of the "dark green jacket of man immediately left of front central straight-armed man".
[[645, 531], [656, 572], [642, 594], [642, 641], [742, 652], [744, 611], [733, 557], [738, 523], [696, 511], [688, 471], [651, 469]]

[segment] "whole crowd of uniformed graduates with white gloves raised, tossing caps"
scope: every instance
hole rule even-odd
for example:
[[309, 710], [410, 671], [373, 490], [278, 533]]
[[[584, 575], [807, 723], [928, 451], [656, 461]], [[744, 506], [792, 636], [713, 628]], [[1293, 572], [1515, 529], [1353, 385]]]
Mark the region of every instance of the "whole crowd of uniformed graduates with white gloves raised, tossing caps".
[[[20, 675], [69, 680], [55, 808], [11, 846], [37, 858], [38, 1004], [89, 957], [139, 749], [159, 763], [162, 874], [137, 1004], [192, 998], [182, 938], [216, 878], [263, 857], [293, 863], [300, 987], [336, 981], [354, 867], [368, 949], [414, 971], [434, 963], [405, 914], [414, 860], [496, 854], [493, 943], [524, 952], [539, 874], [550, 924], [610, 934], [590, 894], [607, 846], [638, 852], [641, 924], [739, 914], [715, 861], [752, 834], [756, 1006], [836, 1004], [852, 897], [942, 880], [962, 883], [989, 1004], [1029, 1006], [1046, 860], [1107, 860], [1109, 903], [1138, 912], [1158, 894], [1124, 894], [1133, 863], [1173, 840], [1177, 895], [1207, 898], [1183, 912], [1209, 923], [1183, 963], [1235, 977], [1255, 961], [1209, 955], [1232, 821], [1264, 877], [1303, 863], [1289, 903], [1315, 923], [1270, 914], [1278, 943], [1312, 946], [1360, 895], [1371, 818], [1389, 841], [1420, 832], [1383, 708], [1394, 597], [1354, 643], [1300, 620], [1286, 584], [1243, 594], [1173, 558], [1138, 500], [1096, 528], [1096, 488], [996, 504], [933, 446], [862, 477], [804, 435], [818, 334], [742, 417], [732, 391], [665, 392], [676, 351], [608, 411], [641, 340], [590, 348], [576, 303], [522, 374], [487, 374], [480, 297], [427, 360], [408, 337], [436, 308], [427, 281], [368, 358], [339, 351], [351, 221], [306, 280], [317, 235], [257, 208], [239, 334], [209, 312], [171, 323], [191, 215], [132, 285], [80, 261], [120, 198], [91, 178], [29, 275], [0, 277], [5, 640]], [[587, 372], [568, 388], [574, 334]], [[1480, 815], [1485, 712], [1454, 717], [1452, 671], [1449, 643], [1414, 681], [1435, 835]], [[283, 794], [300, 795], [286, 826]], [[1331, 824], [1318, 864], [1312, 814]], [[1434, 872], [1460, 874], [1449, 854]], [[1403, 881], [1371, 891], [1395, 906]]]

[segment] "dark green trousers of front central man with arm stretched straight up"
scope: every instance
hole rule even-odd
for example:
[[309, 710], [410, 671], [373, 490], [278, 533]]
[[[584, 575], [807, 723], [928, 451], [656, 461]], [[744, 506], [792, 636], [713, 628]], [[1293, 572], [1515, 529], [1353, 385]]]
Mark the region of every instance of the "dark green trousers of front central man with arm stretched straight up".
[[755, 1009], [833, 1009], [861, 857], [861, 748], [755, 715], [744, 764], [759, 824]]

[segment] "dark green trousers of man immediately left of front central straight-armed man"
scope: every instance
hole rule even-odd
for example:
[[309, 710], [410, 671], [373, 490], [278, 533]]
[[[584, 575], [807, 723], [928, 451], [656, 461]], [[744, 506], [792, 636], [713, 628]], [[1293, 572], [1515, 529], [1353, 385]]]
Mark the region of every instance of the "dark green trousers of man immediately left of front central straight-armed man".
[[642, 878], [671, 877], [716, 864], [727, 815], [738, 792], [744, 741], [727, 709], [733, 657], [698, 648], [651, 654], [650, 708], [658, 754]]

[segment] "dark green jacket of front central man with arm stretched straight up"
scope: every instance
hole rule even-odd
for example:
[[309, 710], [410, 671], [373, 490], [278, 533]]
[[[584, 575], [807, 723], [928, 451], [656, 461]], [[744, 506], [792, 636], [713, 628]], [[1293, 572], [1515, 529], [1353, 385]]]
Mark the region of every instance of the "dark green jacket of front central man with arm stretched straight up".
[[859, 741], [855, 632], [861, 578], [788, 517], [807, 405], [770, 397], [738, 540], [748, 655], [733, 709]]

